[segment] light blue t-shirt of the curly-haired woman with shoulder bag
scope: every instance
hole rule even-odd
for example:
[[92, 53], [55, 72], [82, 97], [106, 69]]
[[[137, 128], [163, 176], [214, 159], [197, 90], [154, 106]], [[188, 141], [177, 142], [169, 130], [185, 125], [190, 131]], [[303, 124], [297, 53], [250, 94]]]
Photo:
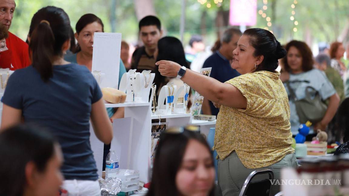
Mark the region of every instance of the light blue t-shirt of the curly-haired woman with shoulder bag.
[[[334, 89], [332, 83], [327, 79], [326, 74], [318, 69], [311, 69], [300, 74], [290, 74], [290, 79], [288, 82], [290, 83], [290, 87], [294, 90], [298, 100], [305, 98], [305, 89], [308, 86], [311, 86], [315, 90], [317, 90], [322, 100], [326, 100], [327, 98], [334, 95], [334, 93], [336, 93], [336, 90]], [[291, 93], [287, 87], [287, 84], [284, 83], [284, 86], [287, 91], [288, 100], [290, 103], [291, 132], [293, 135], [297, 135], [300, 124], [297, 115], [296, 104], [291, 98]], [[310, 127], [309, 134], [312, 133], [313, 126]]]

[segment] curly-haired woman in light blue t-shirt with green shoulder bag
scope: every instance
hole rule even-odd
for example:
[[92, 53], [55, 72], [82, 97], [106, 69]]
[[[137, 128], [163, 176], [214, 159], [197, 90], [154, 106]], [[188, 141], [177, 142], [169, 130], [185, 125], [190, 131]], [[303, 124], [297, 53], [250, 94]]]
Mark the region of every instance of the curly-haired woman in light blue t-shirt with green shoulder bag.
[[331, 82], [327, 79], [325, 73], [318, 69], [313, 69], [313, 54], [305, 42], [292, 40], [285, 46], [285, 49], [287, 55], [283, 59], [284, 71], [281, 73], [280, 79], [284, 83], [289, 96], [292, 134], [298, 134], [300, 123], [295, 101], [291, 98], [291, 92], [286, 82], [289, 83], [298, 100], [305, 98], [305, 90], [308, 86], [318, 91], [322, 100], [329, 99], [328, 108], [324, 117], [320, 122], [316, 123], [314, 127], [311, 127], [310, 134], [313, 134], [312, 129], [321, 129], [325, 131], [328, 123], [332, 120], [337, 111], [340, 101], [339, 96]]

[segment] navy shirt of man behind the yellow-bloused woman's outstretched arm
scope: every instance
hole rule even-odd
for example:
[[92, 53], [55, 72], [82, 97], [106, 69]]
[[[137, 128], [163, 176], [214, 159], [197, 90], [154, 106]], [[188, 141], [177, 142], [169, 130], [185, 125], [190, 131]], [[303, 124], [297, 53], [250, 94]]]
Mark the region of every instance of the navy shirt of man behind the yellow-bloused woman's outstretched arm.
[[[237, 70], [231, 68], [229, 60], [218, 51], [213, 53], [206, 59], [205, 63], [203, 63], [202, 68], [207, 67], [212, 67], [210, 77], [213, 77], [222, 83], [241, 75]], [[209, 101], [209, 103], [212, 115], [217, 116], [219, 109], [216, 108], [211, 101]]]

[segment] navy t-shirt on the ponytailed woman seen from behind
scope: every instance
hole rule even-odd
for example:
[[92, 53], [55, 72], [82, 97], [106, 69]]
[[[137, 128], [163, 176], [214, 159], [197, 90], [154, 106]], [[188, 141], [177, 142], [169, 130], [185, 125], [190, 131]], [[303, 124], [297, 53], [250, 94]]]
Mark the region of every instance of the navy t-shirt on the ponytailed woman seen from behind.
[[102, 98], [101, 89], [85, 66], [53, 66], [53, 77], [43, 82], [29, 66], [9, 78], [2, 102], [22, 110], [26, 123], [49, 128], [61, 145], [66, 180], [97, 180], [90, 145], [91, 105]]

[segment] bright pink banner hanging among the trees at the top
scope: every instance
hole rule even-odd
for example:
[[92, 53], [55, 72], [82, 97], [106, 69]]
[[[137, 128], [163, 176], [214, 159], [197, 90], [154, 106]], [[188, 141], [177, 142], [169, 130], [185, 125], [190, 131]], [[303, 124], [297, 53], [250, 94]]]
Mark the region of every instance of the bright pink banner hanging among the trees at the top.
[[254, 26], [257, 20], [257, 0], [230, 0], [230, 25]]

